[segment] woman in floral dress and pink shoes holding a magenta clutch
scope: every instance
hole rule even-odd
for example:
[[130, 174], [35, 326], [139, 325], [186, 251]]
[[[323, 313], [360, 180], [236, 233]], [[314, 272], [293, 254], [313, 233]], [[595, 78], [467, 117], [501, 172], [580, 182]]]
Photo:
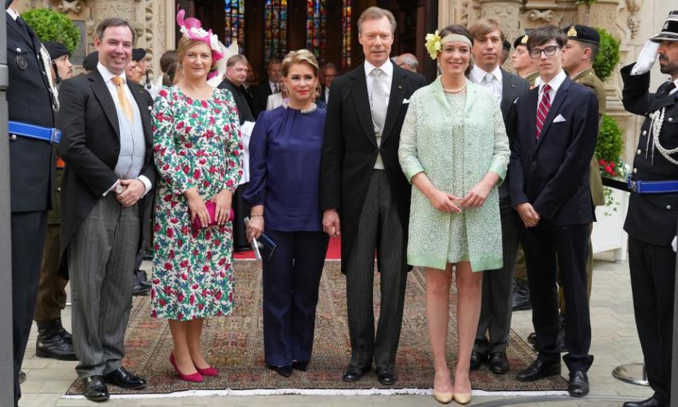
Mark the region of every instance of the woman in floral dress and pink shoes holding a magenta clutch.
[[[184, 35], [177, 49], [180, 80], [162, 88], [153, 107], [160, 173], [153, 317], [168, 319], [174, 340], [170, 362], [179, 377], [191, 382], [218, 375], [203, 358], [203, 319], [230, 314], [233, 308], [232, 223], [227, 216], [242, 176], [242, 146], [231, 93], [207, 83], [214, 53], [210, 42]], [[217, 225], [210, 227], [208, 201], [216, 204]], [[196, 217], [203, 228], [194, 230]]]

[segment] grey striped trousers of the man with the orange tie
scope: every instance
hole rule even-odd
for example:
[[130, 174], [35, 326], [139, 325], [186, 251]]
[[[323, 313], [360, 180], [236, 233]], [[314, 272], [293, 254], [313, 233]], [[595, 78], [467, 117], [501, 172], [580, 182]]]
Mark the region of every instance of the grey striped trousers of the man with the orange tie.
[[121, 366], [140, 228], [138, 204], [125, 208], [114, 194], [107, 194], [69, 242], [78, 377], [107, 374]]

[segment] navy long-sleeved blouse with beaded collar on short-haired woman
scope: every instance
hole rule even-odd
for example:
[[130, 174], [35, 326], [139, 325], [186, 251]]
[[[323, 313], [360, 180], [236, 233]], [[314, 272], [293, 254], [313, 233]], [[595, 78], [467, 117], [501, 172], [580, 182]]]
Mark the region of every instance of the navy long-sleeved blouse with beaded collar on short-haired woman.
[[249, 141], [249, 184], [244, 199], [263, 204], [266, 228], [323, 230], [320, 158], [325, 112], [280, 106], [262, 112]]

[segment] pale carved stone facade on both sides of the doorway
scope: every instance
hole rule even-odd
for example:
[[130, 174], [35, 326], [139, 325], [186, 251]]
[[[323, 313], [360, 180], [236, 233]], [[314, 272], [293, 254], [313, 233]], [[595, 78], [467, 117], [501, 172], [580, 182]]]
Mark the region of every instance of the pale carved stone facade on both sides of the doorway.
[[[439, 0], [438, 26], [442, 28], [451, 23], [469, 25], [478, 18], [494, 18], [499, 20], [504, 33], [512, 41], [526, 30], [543, 24], [560, 27], [576, 23], [593, 25], [605, 28], [622, 41], [622, 66], [636, 60], [648, 37], [660, 28], [672, 8], [670, 3], [672, 1], [596, 0], [593, 5], [585, 6], [578, 5], [576, 0]], [[86, 27], [85, 52], [94, 50], [96, 26], [110, 16], [123, 17], [132, 23], [138, 38], [136, 47], [146, 49], [154, 71], [159, 70], [162, 53], [174, 47], [175, 0], [20, 1], [20, 10], [32, 7], [49, 7], [66, 13], [73, 20], [83, 21]], [[507, 67], [510, 69], [510, 66]], [[632, 159], [641, 118], [624, 112], [617, 72], [606, 83], [607, 113], [626, 129], [626, 157]], [[657, 66], [653, 68], [652, 78], [652, 89], [665, 81]]]

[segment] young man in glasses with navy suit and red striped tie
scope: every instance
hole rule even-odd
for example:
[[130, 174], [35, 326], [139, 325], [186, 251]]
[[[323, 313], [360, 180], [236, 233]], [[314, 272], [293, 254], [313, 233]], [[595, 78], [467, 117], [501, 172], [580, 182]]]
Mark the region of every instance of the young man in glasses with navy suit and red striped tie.
[[591, 326], [586, 295], [588, 228], [594, 220], [588, 172], [598, 134], [598, 100], [562, 69], [567, 38], [553, 25], [530, 33], [540, 85], [518, 99], [516, 138], [511, 144], [511, 204], [520, 218], [518, 235], [528, 266], [537, 334], [537, 360], [518, 380], [560, 374], [558, 262], [566, 303], [563, 360], [571, 396], [588, 394], [586, 372]]

